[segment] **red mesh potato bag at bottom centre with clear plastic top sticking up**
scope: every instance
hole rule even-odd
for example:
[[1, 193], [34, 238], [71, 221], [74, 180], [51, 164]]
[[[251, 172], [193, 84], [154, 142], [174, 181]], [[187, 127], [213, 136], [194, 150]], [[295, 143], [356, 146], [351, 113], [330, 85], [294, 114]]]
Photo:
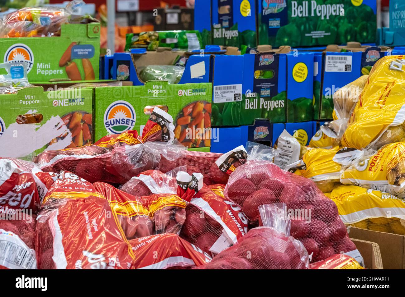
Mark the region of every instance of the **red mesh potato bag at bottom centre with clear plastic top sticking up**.
[[288, 220], [275, 218], [278, 223], [264, 221], [265, 226], [249, 230], [237, 244], [195, 269], [308, 269], [308, 253], [288, 236]]

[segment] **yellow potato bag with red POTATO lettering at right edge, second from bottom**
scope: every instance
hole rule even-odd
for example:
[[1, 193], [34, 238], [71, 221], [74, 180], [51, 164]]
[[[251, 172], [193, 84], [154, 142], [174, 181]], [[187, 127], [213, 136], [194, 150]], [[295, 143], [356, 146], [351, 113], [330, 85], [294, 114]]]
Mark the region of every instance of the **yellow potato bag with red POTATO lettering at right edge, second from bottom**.
[[385, 145], [342, 170], [340, 182], [405, 197], [405, 142]]

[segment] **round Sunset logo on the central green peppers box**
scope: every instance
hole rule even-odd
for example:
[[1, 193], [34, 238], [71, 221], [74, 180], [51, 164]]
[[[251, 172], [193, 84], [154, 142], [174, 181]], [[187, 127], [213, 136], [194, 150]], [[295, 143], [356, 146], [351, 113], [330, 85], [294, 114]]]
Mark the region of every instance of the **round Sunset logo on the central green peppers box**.
[[131, 130], [136, 121], [134, 107], [127, 101], [115, 101], [104, 113], [104, 126], [111, 134]]

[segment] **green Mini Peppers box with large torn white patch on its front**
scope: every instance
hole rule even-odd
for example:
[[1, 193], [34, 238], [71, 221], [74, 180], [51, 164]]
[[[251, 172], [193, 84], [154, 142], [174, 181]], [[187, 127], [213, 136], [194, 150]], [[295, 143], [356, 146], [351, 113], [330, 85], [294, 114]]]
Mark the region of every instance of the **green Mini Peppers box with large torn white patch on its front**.
[[91, 89], [44, 92], [40, 86], [23, 88], [16, 94], [0, 95], [0, 104], [3, 157], [31, 160], [44, 150], [93, 141]]

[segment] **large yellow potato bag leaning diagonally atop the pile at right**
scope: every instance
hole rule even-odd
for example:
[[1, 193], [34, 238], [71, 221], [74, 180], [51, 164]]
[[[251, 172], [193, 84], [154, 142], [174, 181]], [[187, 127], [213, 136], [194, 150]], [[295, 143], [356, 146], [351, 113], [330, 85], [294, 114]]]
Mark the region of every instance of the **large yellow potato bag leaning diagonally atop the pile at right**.
[[[356, 149], [374, 145], [390, 126], [405, 121], [405, 57], [379, 59], [370, 72], [341, 145]], [[386, 144], [386, 143], [384, 143]]]

